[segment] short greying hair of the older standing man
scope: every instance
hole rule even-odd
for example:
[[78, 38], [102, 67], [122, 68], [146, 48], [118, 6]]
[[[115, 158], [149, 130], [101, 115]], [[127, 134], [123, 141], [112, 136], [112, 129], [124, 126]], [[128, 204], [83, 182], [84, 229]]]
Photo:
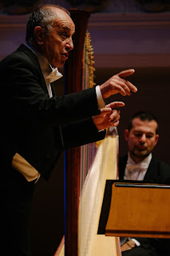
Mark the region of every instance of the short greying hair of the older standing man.
[[[49, 28], [53, 25], [53, 19], [57, 17], [55, 9], [64, 10], [65, 13], [69, 14], [69, 11], [65, 8], [57, 5], [44, 5], [39, 6], [35, 9], [28, 19], [26, 25], [26, 43], [32, 44], [34, 42], [34, 28], [36, 26], [42, 26], [47, 34], [49, 34]], [[69, 14], [70, 15], [70, 14]]]

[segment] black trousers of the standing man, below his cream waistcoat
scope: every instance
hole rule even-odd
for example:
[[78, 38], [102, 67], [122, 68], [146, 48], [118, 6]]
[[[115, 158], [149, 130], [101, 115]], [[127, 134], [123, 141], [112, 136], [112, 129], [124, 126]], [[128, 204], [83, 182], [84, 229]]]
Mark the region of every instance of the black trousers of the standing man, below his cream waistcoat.
[[17, 170], [8, 167], [6, 172], [2, 172], [0, 187], [1, 254], [30, 256], [30, 220], [34, 182], [27, 182]]

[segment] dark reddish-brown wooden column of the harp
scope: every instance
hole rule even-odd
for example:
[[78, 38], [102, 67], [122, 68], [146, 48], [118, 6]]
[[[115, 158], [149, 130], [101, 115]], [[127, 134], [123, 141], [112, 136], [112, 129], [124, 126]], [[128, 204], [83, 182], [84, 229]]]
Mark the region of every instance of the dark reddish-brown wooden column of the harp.
[[[74, 49], [65, 62], [65, 94], [82, 90], [82, 58], [89, 13], [69, 10], [76, 26]], [[80, 147], [65, 151], [65, 256], [77, 256]]]

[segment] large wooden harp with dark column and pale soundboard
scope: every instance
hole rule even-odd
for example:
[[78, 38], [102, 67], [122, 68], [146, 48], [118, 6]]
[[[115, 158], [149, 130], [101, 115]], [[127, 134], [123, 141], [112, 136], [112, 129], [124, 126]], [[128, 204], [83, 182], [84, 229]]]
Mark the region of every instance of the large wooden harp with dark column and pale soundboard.
[[[88, 57], [93, 49], [86, 32], [89, 13], [70, 13], [76, 33], [65, 63], [65, 94], [93, 86], [93, 57]], [[117, 148], [117, 135], [111, 134], [98, 147], [92, 143], [65, 152], [65, 238], [54, 256], [121, 255], [118, 238], [97, 235], [105, 180], [117, 178]]]

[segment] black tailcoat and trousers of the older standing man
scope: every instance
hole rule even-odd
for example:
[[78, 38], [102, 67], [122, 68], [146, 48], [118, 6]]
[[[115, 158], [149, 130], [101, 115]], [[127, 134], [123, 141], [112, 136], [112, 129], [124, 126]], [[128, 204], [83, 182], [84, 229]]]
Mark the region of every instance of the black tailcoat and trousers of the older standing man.
[[92, 120], [100, 113], [95, 88], [49, 98], [38, 58], [25, 45], [0, 62], [0, 81], [1, 253], [30, 256], [34, 181], [11, 167], [14, 154], [47, 180], [61, 150], [101, 140], [105, 131]]

